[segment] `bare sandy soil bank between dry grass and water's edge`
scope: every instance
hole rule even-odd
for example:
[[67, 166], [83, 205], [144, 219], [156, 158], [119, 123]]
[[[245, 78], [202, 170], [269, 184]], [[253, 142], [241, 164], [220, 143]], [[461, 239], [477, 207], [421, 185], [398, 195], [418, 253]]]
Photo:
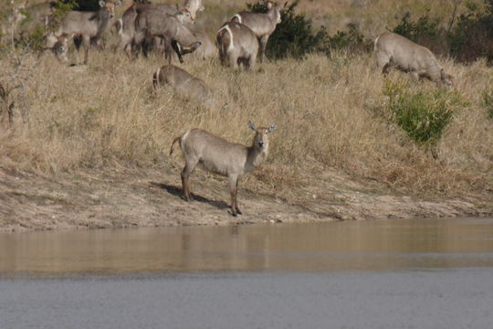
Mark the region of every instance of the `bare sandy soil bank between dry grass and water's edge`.
[[199, 172], [194, 173], [192, 182], [194, 201], [185, 202], [179, 170], [122, 168], [42, 176], [0, 168], [0, 231], [493, 214], [491, 192], [460, 197], [395, 196], [375, 188], [372, 182], [354, 182], [324, 171], [318, 186], [299, 191], [304, 196], [299, 202], [240, 184], [238, 200], [244, 215], [233, 217], [224, 179]]

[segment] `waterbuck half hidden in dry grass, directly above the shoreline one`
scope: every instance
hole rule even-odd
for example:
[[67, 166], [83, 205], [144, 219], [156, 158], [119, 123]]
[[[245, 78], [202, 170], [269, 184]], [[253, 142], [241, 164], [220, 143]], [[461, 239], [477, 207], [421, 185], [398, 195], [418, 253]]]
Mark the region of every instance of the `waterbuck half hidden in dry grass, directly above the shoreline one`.
[[157, 69], [152, 76], [152, 85], [154, 89], [160, 85], [169, 85], [182, 97], [201, 102], [205, 106], [210, 105], [213, 100], [212, 92], [204, 80], [173, 65]]

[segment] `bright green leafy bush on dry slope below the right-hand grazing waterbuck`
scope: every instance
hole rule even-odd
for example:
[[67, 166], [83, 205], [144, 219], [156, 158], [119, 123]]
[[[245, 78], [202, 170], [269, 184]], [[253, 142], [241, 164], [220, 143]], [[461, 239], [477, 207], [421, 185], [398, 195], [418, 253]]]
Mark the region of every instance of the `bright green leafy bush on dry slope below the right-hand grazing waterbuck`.
[[419, 144], [438, 141], [452, 119], [455, 107], [466, 104], [454, 91], [412, 92], [402, 83], [387, 83], [383, 93], [389, 97], [393, 122]]

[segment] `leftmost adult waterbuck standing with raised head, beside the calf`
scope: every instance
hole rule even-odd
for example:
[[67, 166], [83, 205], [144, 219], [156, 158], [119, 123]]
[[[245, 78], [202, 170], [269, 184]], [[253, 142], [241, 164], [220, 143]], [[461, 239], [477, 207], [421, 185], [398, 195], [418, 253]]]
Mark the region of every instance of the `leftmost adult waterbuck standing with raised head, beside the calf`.
[[98, 42], [108, 27], [110, 18], [115, 15], [115, 6], [120, 4], [120, 0], [116, 3], [100, 0], [100, 9], [96, 12], [70, 11], [61, 23], [56, 36], [74, 34], [74, 37], [82, 37], [85, 51], [84, 64], [88, 64], [91, 39], [95, 44]]

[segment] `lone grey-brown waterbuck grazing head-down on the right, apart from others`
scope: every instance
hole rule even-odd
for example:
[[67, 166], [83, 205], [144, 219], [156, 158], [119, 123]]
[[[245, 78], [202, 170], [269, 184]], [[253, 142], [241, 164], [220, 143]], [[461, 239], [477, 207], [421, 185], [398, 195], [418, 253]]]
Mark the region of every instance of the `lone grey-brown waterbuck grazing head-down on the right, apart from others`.
[[377, 65], [387, 74], [391, 67], [411, 73], [414, 80], [427, 78], [452, 87], [452, 77], [438, 64], [430, 49], [395, 33], [385, 31], [375, 39]]

